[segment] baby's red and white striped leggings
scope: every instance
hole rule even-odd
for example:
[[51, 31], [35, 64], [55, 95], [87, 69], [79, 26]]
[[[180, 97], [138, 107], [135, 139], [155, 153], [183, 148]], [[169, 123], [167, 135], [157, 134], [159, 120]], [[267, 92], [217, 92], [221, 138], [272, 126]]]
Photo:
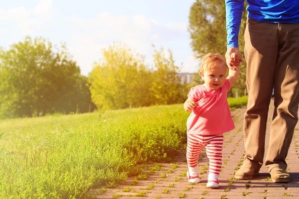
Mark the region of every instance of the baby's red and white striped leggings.
[[209, 158], [209, 172], [219, 175], [222, 166], [223, 134], [221, 135], [192, 135], [187, 134], [187, 163], [195, 167], [202, 147], [206, 148]]

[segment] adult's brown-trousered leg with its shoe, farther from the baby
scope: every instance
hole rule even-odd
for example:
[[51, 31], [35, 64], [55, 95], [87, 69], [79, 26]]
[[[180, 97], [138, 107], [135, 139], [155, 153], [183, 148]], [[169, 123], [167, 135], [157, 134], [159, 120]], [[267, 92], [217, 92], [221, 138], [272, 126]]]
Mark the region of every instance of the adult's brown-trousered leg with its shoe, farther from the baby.
[[[265, 162], [270, 173], [276, 167], [284, 171], [287, 169], [285, 159], [298, 122], [299, 104], [299, 23], [285, 23], [278, 24], [278, 26], [279, 56], [274, 79], [275, 110]], [[275, 174], [271, 176], [274, 181], [277, 178], [280, 178], [278, 182], [290, 181], [287, 173], [280, 177]], [[283, 181], [284, 179], [286, 180]]]

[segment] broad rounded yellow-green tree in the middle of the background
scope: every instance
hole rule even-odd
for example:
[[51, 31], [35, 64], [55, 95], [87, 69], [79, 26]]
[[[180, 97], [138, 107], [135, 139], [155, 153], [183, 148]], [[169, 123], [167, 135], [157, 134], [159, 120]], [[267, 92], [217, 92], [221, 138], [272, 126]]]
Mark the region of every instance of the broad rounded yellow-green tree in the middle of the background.
[[144, 57], [133, 54], [122, 43], [103, 49], [103, 60], [95, 63], [89, 82], [92, 101], [98, 108], [149, 106], [153, 101], [151, 74]]

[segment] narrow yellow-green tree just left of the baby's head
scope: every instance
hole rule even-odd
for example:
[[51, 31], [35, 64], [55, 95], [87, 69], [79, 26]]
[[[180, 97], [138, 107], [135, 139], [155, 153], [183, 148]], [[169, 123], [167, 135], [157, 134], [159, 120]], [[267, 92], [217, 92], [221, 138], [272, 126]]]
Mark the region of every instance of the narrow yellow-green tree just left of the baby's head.
[[172, 53], [168, 50], [166, 57], [163, 48], [154, 49], [153, 82], [151, 91], [157, 104], [182, 103], [186, 98], [182, 94], [183, 85], [178, 75], [179, 67], [174, 64]]

